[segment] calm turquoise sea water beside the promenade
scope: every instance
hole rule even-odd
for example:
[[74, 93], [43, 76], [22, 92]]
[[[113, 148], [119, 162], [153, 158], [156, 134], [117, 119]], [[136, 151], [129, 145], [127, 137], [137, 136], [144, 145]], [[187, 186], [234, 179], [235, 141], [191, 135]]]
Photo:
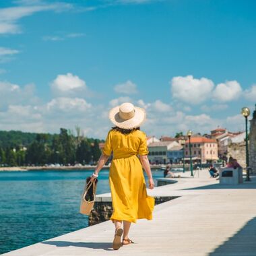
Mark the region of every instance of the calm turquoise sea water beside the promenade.
[[[88, 226], [88, 217], [79, 214], [79, 203], [92, 172], [0, 172], [0, 254]], [[152, 174], [154, 179], [163, 177], [162, 170]], [[97, 194], [107, 192], [108, 170], [102, 170]]]

